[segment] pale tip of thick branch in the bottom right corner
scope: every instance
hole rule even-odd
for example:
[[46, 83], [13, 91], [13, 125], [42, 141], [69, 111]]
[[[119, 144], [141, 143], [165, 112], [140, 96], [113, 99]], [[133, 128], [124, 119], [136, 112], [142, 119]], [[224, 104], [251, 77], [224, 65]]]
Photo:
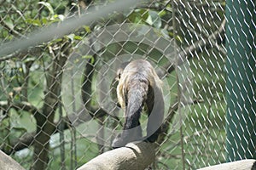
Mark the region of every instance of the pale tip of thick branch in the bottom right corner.
[[211, 167], [203, 167], [199, 170], [256, 170], [256, 160], [248, 159], [241, 161], [232, 161], [229, 163], [222, 163]]

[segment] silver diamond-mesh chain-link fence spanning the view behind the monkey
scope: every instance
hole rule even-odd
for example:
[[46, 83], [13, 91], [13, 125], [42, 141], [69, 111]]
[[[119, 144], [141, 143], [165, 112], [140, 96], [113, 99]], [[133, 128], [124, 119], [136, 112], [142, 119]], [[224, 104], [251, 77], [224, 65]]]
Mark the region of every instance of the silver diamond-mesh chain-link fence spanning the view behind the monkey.
[[[125, 121], [117, 71], [135, 59], [163, 81], [148, 169], [256, 158], [255, 1], [16, 0], [0, 10], [0, 148], [22, 167], [75, 169], [111, 150]], [[143, 114], [141, 126], [145, 135]]]

